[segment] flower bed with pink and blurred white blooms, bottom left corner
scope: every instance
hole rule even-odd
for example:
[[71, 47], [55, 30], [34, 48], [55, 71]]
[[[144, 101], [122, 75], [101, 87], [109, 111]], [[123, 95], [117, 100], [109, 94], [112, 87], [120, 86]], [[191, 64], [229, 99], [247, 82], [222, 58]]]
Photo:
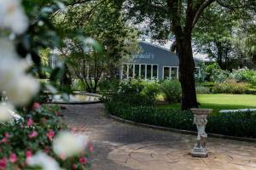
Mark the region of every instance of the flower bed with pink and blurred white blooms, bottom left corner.
[[59, 114], [58, 106], [36, 104], [24, 120], [0, 124], [0, 169], [89, 168], [92, 145], [67, 133]]

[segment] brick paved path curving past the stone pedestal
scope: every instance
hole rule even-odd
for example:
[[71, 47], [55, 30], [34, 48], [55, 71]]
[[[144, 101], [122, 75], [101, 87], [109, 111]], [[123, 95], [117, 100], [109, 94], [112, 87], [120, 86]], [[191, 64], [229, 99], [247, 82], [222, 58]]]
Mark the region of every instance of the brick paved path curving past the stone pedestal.
[[192, 158], [195, 136], [115, 122], [102, 104], [68, 105], [69, 126], [95, 144], [96, 170], [256, 170], [256, 144], [208, 139], [208, 158]]

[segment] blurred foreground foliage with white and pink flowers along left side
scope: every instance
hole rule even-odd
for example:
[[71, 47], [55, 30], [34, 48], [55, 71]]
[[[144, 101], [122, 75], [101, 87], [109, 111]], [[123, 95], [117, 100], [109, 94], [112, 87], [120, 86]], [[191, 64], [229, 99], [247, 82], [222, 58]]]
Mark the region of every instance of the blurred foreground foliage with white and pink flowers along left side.
[[[38, 49], [57, 39], [42, 20], [60, 4], [0, 0], [0, 169], [89, 167], [88, 138], [68, 132], [57, 107], [33, 104], [42, 88], [35, 78], [41, 74]], [[15, 112], [22, 117], [15, 119]]]

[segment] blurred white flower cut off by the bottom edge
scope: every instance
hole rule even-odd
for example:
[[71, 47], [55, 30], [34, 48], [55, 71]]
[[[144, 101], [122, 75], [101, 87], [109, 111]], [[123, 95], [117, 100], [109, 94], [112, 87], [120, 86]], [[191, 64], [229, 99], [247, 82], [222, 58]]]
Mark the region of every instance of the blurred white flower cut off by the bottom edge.
[[43, 170], [61, 170], [57, 161], [44, 152], [38, 152], [36, 155], [28, 158], [27, 164], [31, 167], [42, 167]]

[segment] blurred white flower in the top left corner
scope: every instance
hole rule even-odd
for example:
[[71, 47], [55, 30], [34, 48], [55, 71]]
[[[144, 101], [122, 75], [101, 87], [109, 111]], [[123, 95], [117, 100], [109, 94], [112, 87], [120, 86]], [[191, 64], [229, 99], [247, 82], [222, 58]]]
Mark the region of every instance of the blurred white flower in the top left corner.
[[9, 28], [16, 34], [26, 31], [28, 19], [20, 0], [0, 0], [0, 27]]

